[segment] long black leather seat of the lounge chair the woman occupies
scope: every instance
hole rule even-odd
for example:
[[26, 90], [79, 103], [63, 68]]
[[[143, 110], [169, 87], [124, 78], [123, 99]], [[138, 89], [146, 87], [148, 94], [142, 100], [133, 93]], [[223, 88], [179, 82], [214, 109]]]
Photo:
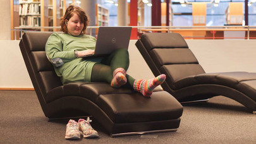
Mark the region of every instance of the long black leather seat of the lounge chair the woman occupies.
[[165, 91], [151, 97], [128, 88], [113, 88], [108, 83], [70, 83], [47, 93], [47, 103], [61, 97], [78, 96], [94, 102], [113, 123], [140, 123], [179, 119], [182, 105]]

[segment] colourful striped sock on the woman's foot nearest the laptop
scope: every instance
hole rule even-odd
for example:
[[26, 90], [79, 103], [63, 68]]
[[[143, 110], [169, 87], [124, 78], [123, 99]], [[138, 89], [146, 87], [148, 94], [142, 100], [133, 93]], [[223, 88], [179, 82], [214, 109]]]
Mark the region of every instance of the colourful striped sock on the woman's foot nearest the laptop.
[[111, 86], [114, 88], [119, 88], [126, 83], [126, 71], [123, 68], [117, 68], [113, 71], [113, 79], [111, 81]]

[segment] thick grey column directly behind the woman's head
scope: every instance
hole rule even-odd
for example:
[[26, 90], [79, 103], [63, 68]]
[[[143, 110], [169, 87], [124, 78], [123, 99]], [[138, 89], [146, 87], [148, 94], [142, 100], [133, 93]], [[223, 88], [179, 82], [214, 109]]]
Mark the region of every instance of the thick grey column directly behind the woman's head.
[[95, 0], [81, 0], [81, 8], [85, 11], [90, 19], [88, 26], [96, 25], [96, 1]]

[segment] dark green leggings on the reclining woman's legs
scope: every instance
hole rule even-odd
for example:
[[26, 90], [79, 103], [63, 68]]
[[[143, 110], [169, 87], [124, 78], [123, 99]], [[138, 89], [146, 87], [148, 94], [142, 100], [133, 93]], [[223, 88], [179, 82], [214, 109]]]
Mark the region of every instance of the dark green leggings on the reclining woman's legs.
[[[127, 71], [130, 64], [129, 53], [127, 49], [118, 49], [112, 52], [109, 56], [104, 57], [101, 63], [94, 64], [92, 68], [92, 82], [107, 82], [111, 83], [113, 79], [113, 71], [117, 68], [123, 68]], [[133, 88], [135, 81], [129, 75], [126, 75], [127, 83], [122, 87]]]

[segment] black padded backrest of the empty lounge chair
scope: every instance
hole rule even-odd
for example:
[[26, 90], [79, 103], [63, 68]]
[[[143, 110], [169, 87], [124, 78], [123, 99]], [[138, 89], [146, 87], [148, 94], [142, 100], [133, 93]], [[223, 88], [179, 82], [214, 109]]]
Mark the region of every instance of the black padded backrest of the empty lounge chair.
[[144, 59], [148, 57], [145, 61], [151, 61], [148, 64], [154, 75], [167, 75], [169, 87], [186, 76], [205, 73], [179, 33], [145, 33], [137, 42], [137, 47], [141, 53], [140, 49], [147, 53], [142, 53], [142, 56]]

